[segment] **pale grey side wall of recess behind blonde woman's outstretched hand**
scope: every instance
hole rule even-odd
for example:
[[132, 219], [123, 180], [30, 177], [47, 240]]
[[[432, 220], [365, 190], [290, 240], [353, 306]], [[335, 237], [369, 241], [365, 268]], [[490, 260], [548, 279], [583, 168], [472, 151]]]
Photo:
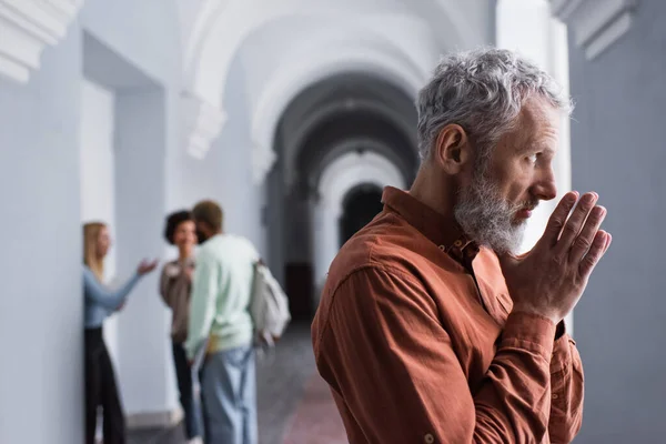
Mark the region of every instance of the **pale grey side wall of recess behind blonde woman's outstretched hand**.
[[[167, 213], [167, 97], [157, 87], [117, 95], [118, 274], [128, 276], [142, 258], [162, 258]], [[133, 290], [119, 316], [120, 387], [130, 425], [171, 421], [175, 390], [169, 341], [170, 314], [158, 293], [159, 270]]]

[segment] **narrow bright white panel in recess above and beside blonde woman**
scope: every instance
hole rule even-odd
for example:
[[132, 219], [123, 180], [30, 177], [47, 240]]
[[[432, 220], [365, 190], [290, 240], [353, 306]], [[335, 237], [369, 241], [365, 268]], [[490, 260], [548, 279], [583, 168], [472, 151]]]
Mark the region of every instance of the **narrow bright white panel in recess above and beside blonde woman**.
[[[107, 223], [115, 241], [115, 155], [113, 150], [114, 95], [102, 85], [81, 82], [81, 222]], [[115, 281], [115, 248], [112, 244], [104, 261], [104, 280]], [[118, 367], [118, 316], [104, 322], [104, 340], [111, 360]]]

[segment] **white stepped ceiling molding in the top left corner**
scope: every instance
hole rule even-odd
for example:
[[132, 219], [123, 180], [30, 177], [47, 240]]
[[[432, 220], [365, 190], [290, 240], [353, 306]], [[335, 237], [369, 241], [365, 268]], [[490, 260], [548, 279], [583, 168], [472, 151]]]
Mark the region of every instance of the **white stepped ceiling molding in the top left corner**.
[[47, 46], [67, 34], [83, 0], [0, 0], [0, 74], [27, 83]]

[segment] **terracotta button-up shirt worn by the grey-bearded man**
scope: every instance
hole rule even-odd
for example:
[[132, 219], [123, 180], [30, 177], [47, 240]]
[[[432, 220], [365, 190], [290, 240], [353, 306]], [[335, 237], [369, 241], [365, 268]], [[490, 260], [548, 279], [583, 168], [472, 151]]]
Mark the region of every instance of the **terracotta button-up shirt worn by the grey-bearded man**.
[[[312, 324], [350, 443], [568, 443], [583, 367], [547, 319], [511, 313], [495, 254], [408, 193], [341, 250]], [[466, 266], [465, 266], [466, 265]]]

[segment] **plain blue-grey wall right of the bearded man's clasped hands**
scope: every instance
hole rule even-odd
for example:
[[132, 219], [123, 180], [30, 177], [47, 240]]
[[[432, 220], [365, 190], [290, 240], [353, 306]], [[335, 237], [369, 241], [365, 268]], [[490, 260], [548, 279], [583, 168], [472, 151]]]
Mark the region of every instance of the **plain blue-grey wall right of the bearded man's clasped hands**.
[[[572, 41], [572, 179], [608, 210], [610, 249], [576, 306], [585, 414], [576, 443], [664, 442], [666, 2], [587, 60]], [[573, 39], [572, 39], [573, 40]]]

